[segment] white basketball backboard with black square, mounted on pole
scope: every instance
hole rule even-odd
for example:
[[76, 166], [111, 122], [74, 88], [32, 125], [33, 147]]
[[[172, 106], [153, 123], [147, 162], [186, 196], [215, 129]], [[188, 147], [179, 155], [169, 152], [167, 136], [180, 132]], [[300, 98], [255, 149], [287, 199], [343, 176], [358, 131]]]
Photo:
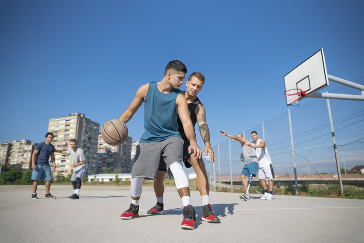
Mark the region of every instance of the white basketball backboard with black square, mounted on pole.
[[[329, 85], [324, 50], [321, 48], [284, 76], [285, 91], [301, 89], [306, 97]], [[301, 97], [302, 100], [306, 97]], [[287, 100], [287, 106], [291, 105]]]

